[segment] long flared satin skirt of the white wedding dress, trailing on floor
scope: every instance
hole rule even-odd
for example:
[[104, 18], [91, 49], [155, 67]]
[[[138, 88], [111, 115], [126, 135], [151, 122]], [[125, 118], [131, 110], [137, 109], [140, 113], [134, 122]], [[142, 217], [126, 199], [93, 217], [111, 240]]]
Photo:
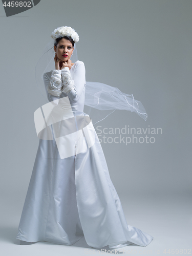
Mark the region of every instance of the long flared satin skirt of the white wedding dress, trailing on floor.
[[[89, 117], [81, 111], [73, 114], [76, 124], [78, 116]], [[16, 238], [73, 245], [84, 236], [94, 248], [148, 245], [153, 240], [150, 234], [127, 225], [94, 126], [87, 126], [77, 127], [82, 132], [73, 136], [73, 142], [65, 136], [62, 145], [68, 146], [62, 154], [74, 154], [62, 159], [55, 138], [39, 139]]]

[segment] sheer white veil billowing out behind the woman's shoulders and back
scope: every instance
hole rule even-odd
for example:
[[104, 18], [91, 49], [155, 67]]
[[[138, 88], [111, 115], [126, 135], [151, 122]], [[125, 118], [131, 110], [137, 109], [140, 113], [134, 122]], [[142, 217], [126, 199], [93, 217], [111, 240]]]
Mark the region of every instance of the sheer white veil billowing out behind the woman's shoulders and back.
[[[36, 84], [46, 102], [49, 102], [49, 100], [42, 76], [44, 73], [55, 69], [54, 56], [54, 39], [52, 39], [44, 48], [35, 67]], [[78, 60], [76, 43], [74, 44], [71, 60], [73, 63]], [[144, 106], [140, 101], [134, 99], [133, 94], [125, 94], [116, 87], [100, 82], [86, 81], [84, 105], [86, 109], [84, 112], [90, 115], [93, 124], [102, 121], [115, 110], [135, 112], [144, 120], [147, 119]]]

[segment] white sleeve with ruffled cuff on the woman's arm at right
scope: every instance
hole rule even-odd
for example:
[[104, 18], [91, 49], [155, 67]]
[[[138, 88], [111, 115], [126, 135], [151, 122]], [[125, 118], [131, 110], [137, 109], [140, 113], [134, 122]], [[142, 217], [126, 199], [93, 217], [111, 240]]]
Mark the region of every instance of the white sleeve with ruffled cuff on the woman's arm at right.
[[62, 92], [66, 93], [68, 97], [77, 102], [83, 91], [86, 83], [86, 69], [82, 61], [78, 61], [75, 67], [73, 79], [68, 67], [61, 70]]

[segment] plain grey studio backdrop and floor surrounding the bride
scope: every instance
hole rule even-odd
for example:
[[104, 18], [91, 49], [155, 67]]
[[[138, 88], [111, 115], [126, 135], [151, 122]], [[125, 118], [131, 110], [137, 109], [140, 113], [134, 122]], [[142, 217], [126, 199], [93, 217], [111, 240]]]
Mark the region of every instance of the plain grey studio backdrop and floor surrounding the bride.
[[[86, 80], [133, 94], [148, 114], [144, 121], [136, 113], [115, 111], [95, 129], [162, 129], [162, 134], [147, 134], [155, 137], [154, 143], [101, 143], [127, 223], [154, 236], [154, 253], [172, 244], [189, 248], [191, 11], [189, 0], [41, 0], [11, 17], [0, 6], [0, 218], [1, 240], [9, 255], [11, 246], [17, 246], [19, 255], [36, 250], [14, 243], [39, 141], [33, 114], [46, 103], [36, 86], [35, 66], [51, 32], [60, 26], [79, 34], [78, 59], [86, 67]], [[66, 247], [62, 250], [72, 253], [72, 247]]]

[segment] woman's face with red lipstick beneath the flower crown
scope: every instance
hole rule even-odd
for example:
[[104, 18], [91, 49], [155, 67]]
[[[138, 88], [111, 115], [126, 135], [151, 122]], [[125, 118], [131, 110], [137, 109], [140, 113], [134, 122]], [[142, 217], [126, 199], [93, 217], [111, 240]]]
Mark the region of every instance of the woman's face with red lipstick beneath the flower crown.
[[60, 60], [67, 61], [71, 58], [71, 54], [73, 53], [73, 45], [70, 40], [66, 38], [62, 38], [57, 45], [57, 48], [54, 46], [57, 57]]

